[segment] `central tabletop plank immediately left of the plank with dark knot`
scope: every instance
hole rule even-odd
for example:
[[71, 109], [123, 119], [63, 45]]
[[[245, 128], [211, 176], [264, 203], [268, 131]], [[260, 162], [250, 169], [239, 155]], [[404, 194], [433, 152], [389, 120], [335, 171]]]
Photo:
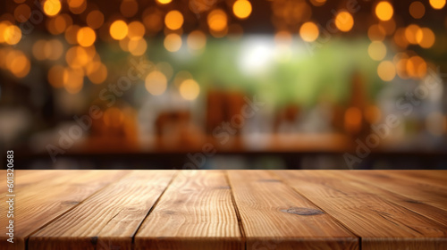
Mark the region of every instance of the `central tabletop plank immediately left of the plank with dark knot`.
[[223, 171], [181, 171], [135, 237], [142, 249], [244, 249]]

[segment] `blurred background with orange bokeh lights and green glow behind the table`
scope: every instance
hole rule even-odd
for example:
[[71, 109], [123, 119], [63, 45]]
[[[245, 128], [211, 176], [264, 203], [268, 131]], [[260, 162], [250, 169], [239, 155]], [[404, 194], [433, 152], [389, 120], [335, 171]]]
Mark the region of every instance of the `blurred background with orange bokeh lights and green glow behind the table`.
[[447, 169], [445, 0], [0, 9], [18, 169]]

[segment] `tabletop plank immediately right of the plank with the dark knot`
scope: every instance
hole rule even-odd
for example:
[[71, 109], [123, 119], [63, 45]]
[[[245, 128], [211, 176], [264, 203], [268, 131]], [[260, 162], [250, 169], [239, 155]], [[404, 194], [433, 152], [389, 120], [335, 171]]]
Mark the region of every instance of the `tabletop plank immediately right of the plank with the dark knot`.
[[447, 226], [325, 171], [275, 171], [300, 194], [362, 238], [362, 250], [445, 249]]

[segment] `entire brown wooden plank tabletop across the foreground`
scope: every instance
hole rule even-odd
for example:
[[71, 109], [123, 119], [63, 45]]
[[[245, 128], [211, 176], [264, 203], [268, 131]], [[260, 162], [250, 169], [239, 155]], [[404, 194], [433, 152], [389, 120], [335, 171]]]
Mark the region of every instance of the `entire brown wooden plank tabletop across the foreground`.
[[2, 202], [0, 249], [447, 249], [447, 171], [14, 176], [14, 243]]

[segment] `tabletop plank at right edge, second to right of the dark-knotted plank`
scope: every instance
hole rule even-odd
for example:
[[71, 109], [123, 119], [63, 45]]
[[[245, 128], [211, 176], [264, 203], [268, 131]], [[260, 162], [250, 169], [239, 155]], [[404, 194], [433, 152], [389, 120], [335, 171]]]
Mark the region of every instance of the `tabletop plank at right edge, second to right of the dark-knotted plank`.
[[447, 211], [447, 185], [431, 185], [429, 180], [414, 181], [401, 178], [396, 172], [389, 171], [347, 171], [353, 178], [369, 181], [375, 186], [392, 190], [418, 203], [430, 204]]

